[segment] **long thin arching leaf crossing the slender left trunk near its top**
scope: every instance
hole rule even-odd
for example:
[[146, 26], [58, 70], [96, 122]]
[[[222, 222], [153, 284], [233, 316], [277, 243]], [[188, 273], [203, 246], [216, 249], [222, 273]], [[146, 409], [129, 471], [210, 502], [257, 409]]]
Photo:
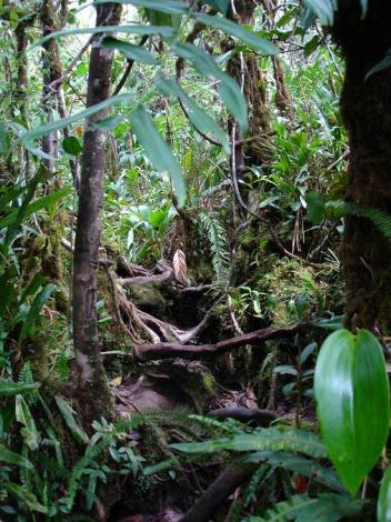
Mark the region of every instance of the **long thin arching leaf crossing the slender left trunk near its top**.
[[[107, 3], [107, 2], [102, 2]], [[121, 3], [121, 2], [117, 2]], [[46, 37], [38, 40], [36, 43], [31, 46], [30, 49], [34, 47], [42, 46], [47, 41], [51, 40], [52, 38], [61, 38], [61, 37], [71, 37], [74, 34], [109, 34], [109, 33], [124, 33], [124, 34], [160, 34], [163, 38], [172, 38], [176, 34], [174, 29], [171, 27], [164, 26], [100, 26], [100, 27], [87, 27], [80, 29], [64, 29], [62, 31], [54, 31]]]

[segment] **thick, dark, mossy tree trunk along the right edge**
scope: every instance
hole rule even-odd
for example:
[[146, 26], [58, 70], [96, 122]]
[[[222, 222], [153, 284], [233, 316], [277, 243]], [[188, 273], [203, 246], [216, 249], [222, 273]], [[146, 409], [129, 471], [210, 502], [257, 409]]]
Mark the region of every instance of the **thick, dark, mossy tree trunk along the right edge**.
[[[347, 200], [391, 214], [391, 69], [365, 74], [391, 48], [391, 4], [340, 0], [333, 36], [347, 61], [341, 110], [350, 144]], [[349, 215], [342, 247], [348, 325], [390, 333], [390, 240], [364, 218]]]

